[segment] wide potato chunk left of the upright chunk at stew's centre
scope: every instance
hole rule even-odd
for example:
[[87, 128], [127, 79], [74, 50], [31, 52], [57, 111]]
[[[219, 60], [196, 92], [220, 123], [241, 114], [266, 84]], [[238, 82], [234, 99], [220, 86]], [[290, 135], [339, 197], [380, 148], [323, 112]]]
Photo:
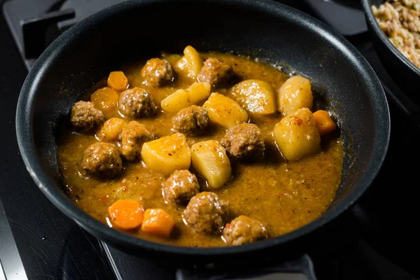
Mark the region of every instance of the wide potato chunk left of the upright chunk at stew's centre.
[[141, 148], [141, 158], [146, 167], [164, 175], [188, 169], [191, 163], [190, 147], [182, 133], [146, 142]]

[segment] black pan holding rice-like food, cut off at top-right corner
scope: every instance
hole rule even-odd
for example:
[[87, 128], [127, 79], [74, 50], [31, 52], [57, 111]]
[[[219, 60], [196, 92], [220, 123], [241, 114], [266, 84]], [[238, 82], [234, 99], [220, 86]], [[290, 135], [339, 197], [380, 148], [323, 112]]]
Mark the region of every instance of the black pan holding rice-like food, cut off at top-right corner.
[[372, 5], [379, 8], [384, 0], [361, 1], [372, 43], [379, 59], [381, 59], [381, 63], [384, 64], [386, 71], [388, 71], [395, 83], [401, 87], [414, 102], [420, 104], [420, 69], [395, 48], [384, 34], [384, 31], [381, 30], [381, 27], [379, 27], [378, 22], [372, 13]]

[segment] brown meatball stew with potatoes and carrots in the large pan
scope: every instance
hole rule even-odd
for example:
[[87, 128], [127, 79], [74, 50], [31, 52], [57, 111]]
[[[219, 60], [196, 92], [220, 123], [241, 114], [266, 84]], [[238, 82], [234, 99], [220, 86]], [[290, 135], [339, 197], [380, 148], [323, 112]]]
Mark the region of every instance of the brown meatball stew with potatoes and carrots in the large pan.
[[[315, 99], [315, 100], [314, 100]], [[112, 228], [177, 246], [237, 246], [321, 216], [342, 139], [301, 76], [232, 54], [162, 54], [113, 71], [59, 136], [66, 193]]]

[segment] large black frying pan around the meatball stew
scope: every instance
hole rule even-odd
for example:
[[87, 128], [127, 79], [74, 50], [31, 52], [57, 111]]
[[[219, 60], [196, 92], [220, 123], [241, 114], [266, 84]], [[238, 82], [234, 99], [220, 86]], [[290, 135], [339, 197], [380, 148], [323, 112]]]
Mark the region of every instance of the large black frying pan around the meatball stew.
[[[341, 127], [346, 154], [342, 183], [321, 218], [287, 235], [226, 248], [156, 244], [94, 220], [62, 192], [57, 127], [81, 94], [124, 62], [160, 50], [233, 51], [281, 64], [309, 77]], [[16, 127], [22, 158], [48, 199], [92, 235], [134, 255], [174, 265], [291, 258], [344, 213], [370, 186], [386, 155], [388, 105], [374, 71], [336, 31], [274, 1], [127, 1], [92, 15], [59, 36], [29, 72]], [[42, 207], [42, 206], [41, 206]]]

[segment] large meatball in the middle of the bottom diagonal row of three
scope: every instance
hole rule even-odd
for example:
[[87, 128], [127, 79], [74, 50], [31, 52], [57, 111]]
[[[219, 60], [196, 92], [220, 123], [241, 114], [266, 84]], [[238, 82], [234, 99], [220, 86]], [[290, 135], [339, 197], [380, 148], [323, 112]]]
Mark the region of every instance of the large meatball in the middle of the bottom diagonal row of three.
[[197, 233], [221, 232], [228, 204], [219, 200], [216, 193], [202, 192], [191, 198], [184, 211], [186, 223]]

